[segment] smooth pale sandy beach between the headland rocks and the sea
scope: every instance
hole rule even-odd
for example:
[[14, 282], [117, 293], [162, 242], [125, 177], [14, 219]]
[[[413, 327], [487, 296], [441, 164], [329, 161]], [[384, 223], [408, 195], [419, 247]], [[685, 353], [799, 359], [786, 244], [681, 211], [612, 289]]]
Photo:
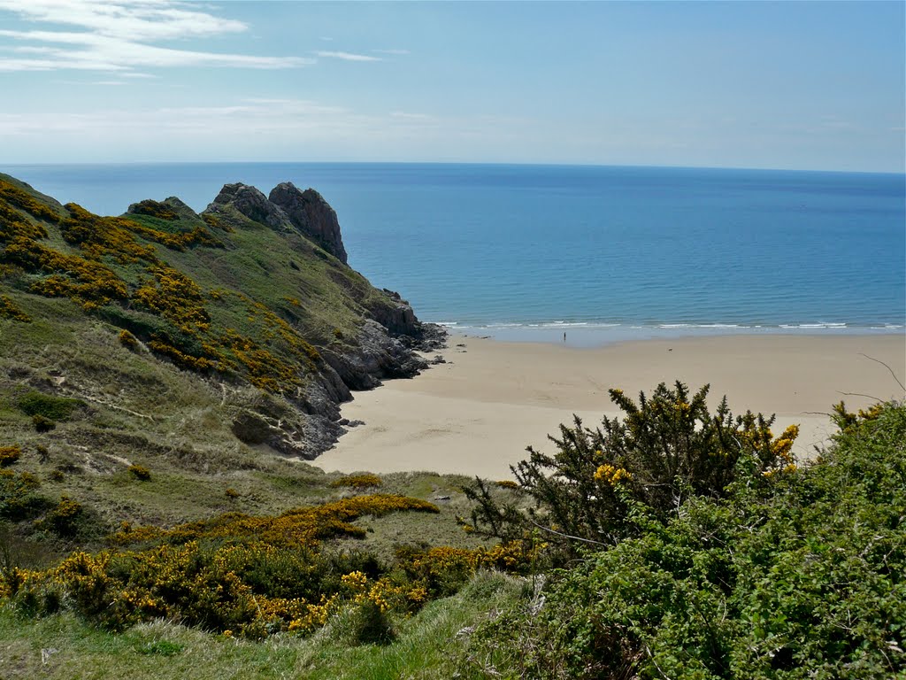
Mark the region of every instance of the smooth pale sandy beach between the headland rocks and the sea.
[[608, 388], [636, 396], [676, 379], [693, 390], [710, 383], [712, 408], [727, 394], [733, 413], [776, 413], [776, 432], [799, 423], [796, 453], [805, 456], [833, 432], [824, 414], [833, 403], [903, 397], [890, 371], [867, 357], [906, 382], [904, 335], [728, 335], [591, 349], [451, 336], [448, 345], [438, 353], [447, 364], [356, 393], [342, 416], [365, 424], [315, 464], [506, 479], [527, 445], [554, 452], [547, 435], [573, 413], [591, 427], [615, 415]]

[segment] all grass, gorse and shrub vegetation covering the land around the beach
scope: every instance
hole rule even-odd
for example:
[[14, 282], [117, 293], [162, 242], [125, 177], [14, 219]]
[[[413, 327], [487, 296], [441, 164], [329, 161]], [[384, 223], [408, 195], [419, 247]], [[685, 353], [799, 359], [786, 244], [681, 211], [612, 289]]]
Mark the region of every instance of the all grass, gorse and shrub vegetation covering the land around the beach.
[[0, 675], [906, 674], [903, 403], [798, 461], [708, 386], [614, 387], [513, 480], [327, 474], [405, 309], [218, 205], [0, 178]]

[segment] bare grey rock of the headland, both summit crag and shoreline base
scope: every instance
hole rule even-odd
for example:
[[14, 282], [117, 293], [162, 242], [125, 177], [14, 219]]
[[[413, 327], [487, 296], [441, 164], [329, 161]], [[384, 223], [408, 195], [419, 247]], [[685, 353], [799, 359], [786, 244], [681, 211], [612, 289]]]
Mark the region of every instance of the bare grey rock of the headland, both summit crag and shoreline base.
[[[292, 182], [282, 182], [265, 197], [255, 187], [226, 184], [201, 217], [228, 220], [235, 213], [280, 234], [301, 235], [349, 267], [336, 212], [314, 189], [303, 191]], [[323, 364], [304, 393], [287, 400], [296, 408], [287, 409], [282, 400], [262, 400], [254, 409], [236, 415], [232, 426], [236, 437], [313, 460], [346, 432], [349, 423], [342, 423], [340, 404], [352, 400], [352, 392], [371, 390], [383, 380], [411, 378], [427, 369], [428, 362], [417, 353], [445, 347], [446, 329], [420, 322], [399, 293], [386, 288], [381, 293], [376, 302], [365, 306], [358, 335], [348, 344], [339, 350], [317, 347]]]

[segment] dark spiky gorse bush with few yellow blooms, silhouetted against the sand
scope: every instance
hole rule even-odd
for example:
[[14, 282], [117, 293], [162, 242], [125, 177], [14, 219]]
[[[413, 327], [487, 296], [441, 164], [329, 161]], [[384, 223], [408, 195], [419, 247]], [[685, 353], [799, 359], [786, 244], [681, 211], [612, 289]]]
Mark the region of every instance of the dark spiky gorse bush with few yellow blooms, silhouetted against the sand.
[[505, 541], [540, 528], [570, 553], [580, 542], [612, 544], [635, 530], [627, 500], [641, 501], [663, 519], [690, 495], [722, 497], [740, 471], [766, 484], [795, 469], [795, 426], [775, 438], [773, 418], [734, 416], [726, 397], [712, 414], [708, 385], [692, 394], [679, 382], [672, 389], [660, 384], [650, 397], [641, 393], [639, 403], [621, 390], [610, 394], [622, 419], [605, 416], [592, 430], [576, 418], [550, 438], [553, 455], [529, 448], [528, 460], [512, 467], [517, 488], [497, 484], [514, 491], [510, 502], [495, 500], [483, 481], [467, 487], [477, 503], [472, 526]]

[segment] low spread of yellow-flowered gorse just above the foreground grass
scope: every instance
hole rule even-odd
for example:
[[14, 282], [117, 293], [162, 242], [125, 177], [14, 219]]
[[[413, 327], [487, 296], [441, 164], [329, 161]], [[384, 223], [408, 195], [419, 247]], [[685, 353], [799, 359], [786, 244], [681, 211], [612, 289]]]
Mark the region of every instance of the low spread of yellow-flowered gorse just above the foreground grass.
[[[44, 571], [16, 569], [0, 578], [0, 594], [31, 615], [50, 613], [42, 602], [63, 602], [112, 629], [167, 617], [248, 637], [281, 630], [307, 634], [344, 607], [358, 607], [355, 636], [385, 642], [392, 636], [386, 615], [417, 610], [483, 565], [520, 559], [512, 549], [454, 557], [429, 551], [385, 566], [367, 553], [323, 549], [325, 539], [363, 537], [350, 524], [361, 515], [397, 511], [438, 509], [424, 500], [375, 495], [279, 517], [227, 513], [169, 530], [126, 526], [112, 539], [123, 548], [79, 552]], [[42, 521], [63, 533], [79, 514], [63, 499]]]

